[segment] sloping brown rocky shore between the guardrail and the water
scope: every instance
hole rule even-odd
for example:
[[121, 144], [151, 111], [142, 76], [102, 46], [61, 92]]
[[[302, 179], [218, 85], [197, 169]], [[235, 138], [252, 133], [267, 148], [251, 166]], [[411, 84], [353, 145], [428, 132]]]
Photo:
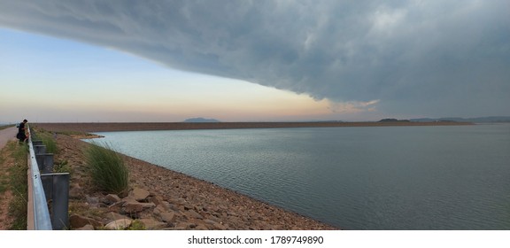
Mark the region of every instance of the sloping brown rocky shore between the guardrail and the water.
[[55, 164], [72, 170], [71, 229], [340, 229], [124, 155], [131, 190], [104, 194], [93, 187], [84, 163], [89, 143], [61, 134], [56, 140]]

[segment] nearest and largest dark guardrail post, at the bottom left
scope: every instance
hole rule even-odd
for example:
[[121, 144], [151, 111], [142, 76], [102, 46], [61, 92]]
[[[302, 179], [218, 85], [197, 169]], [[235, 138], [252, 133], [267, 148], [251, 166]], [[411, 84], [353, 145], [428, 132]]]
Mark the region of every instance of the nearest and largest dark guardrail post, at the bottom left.
[[69, 228], [69, 174], [41, 174], [46, 198], [51, 202], [51, 226], [54, 230]]

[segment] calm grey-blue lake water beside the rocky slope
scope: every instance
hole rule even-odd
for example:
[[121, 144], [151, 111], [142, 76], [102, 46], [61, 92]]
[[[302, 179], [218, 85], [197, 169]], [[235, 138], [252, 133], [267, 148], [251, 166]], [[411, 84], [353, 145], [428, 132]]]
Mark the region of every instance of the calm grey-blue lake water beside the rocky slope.
[[510, 229], [508, 124], [97, 134], [343, 229]]

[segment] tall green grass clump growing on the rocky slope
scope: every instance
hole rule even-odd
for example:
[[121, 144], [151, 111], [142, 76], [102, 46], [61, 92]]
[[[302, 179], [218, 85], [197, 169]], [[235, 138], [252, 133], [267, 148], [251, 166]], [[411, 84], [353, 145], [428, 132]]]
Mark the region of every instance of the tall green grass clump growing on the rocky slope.
[[92, 142], [85, 151], [85, 159], [89, 165], [92, 182], [109, 193], [121, 194], [128, 190], [128, 167], [120, 155], [112, 150], [111, 145], [104, 147]]

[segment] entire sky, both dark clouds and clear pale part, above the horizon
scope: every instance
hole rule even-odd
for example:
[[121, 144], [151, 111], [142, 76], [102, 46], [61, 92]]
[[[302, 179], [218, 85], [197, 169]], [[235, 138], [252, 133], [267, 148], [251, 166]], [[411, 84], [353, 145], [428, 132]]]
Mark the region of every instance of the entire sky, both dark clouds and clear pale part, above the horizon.
[[510, 2], [0, 0], [0, 122], [510, 115]]

